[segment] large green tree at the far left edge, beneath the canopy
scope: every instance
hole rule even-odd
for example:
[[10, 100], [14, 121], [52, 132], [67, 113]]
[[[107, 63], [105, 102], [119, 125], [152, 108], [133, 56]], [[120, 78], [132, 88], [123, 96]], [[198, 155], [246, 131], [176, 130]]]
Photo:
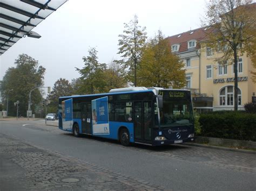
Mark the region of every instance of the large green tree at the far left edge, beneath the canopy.
[[[3, 77], [3, 103], [6, 104], [9, 92], [9, 115], [16, 116], [14, 103], [19, 101], [19, 114], [26, 116], [30, 90], [36, 86], [43, 86], [45, 68], [39, 66], [37, 60], [26, 54], [19, 55], [15, 60], [15, 65], [16, 67], [8, 68]], [[13, 90], [10, 91], [11, 89]], [[41, 91], [33, 90], [31, 93], [32, 110], [41, 100]]]

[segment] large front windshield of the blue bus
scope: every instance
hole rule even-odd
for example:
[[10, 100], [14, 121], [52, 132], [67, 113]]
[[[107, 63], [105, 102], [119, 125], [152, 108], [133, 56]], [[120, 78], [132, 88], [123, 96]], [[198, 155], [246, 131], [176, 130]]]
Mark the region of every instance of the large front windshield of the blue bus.
[[193, 123], [192, 104], [188, 100], [164, 101], [160, 109], [160, 128], [188, 126]]

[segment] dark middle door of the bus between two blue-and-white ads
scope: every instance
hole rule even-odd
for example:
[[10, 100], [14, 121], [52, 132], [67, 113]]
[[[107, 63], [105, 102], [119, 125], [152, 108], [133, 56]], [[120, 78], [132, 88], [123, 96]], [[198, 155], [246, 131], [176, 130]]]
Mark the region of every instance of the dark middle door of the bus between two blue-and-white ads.
[[82, 133], [92, 133], [92, 110], [91, 103], [81, 103]]

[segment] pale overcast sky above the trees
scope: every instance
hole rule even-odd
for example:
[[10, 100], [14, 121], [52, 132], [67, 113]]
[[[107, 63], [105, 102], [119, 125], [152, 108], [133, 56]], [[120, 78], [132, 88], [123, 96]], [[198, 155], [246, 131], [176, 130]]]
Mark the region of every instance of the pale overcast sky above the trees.
[[53, 87], [60, 77], [71, 81], [79, 77], [75, 67], [84, 66], [82, 57], [89, 47], [96, 47], [99, 62], [119, 58], [118, 35], [135, 14], [148, 37], [159, 29], [168, 37], [200, 27], [205, 4], [205, 0], [69, 0], [33, 29], [40, 39], [22, 38], [0, 56], [0, 80], [25, 53], [46, 68], [45, 86]]

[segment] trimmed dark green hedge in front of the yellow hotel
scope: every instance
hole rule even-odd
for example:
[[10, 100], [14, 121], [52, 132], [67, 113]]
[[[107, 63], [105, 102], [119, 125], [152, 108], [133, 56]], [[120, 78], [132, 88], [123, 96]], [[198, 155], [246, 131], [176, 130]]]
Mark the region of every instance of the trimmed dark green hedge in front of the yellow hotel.
[[256, 114], [216, 111], [201, 114], [201, 136], [256, 141]]

